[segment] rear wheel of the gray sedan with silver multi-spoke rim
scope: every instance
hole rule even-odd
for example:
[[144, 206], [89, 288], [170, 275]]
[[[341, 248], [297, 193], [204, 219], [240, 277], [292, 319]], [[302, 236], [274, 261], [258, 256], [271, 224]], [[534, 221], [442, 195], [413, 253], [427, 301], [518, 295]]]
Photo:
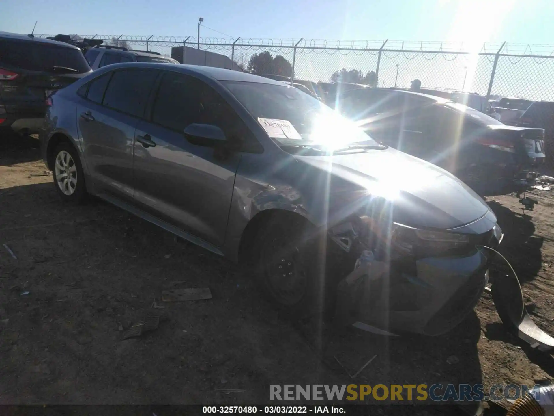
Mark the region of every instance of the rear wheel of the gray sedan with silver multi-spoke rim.
[[[70, 177], [70, 180], [66, 178]], [[73, 145], [63, 142], [54, 151], [52, 178], [58, 195], [65, 202], [80, 204], [85, 200], [85, 175]]]

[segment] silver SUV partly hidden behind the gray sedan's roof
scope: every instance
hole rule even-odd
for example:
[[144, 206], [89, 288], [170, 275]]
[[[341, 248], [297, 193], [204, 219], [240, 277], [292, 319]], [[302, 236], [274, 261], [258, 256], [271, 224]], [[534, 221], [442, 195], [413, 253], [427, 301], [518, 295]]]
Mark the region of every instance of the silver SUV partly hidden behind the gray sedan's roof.
[[93, 69], [105, 67], [110, 64], [123, 62], [159, 62], [166, 64], [178, 64], [170, 57], [164, 57], [158, 52], [148, 50], [129, 50], [120, 46], [102, 45], [89, 49], [85, 58]]

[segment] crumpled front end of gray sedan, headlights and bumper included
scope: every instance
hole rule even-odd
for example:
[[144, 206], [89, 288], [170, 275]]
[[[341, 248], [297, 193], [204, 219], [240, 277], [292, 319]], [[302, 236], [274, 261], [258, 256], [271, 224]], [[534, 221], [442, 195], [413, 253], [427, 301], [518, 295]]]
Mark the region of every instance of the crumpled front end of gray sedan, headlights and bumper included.
[[[447, 231], [370, 217], [330, 227], [337, 283], [336, 319], [374, 332], [444, 333], [477, 303], [502, 238], [494, 215]], [[347, 272], [345, 272], [347, 271]]]

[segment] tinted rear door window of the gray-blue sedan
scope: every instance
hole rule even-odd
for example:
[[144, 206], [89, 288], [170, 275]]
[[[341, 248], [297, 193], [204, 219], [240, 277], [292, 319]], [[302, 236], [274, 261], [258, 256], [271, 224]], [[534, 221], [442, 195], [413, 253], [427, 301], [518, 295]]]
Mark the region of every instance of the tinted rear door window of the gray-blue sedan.
[[158, 72], [152, 69], [116, 70], [102, 104], [141, 117], [157, 75]]

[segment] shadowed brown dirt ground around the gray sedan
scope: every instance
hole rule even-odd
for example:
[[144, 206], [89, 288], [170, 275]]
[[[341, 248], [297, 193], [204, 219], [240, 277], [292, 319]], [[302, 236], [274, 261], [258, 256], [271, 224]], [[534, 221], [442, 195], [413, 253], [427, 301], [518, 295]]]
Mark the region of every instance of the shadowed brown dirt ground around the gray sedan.
[[[33, 145], [0, 138], [1, 404], [263, 404], [269, 384], [353, 383], [345, 369], [375, 354], [354, 383], [490, 387], [554, 376], [550, 355], [506, 333], [488, 293], [439, 337], [291, 322], [229, 261], [99, 200], [61, 204]], [[526, 215], [513, 195], [488, 202], [531, 316], [554, 334], [554, 191], [534, 193]], [[213, 298], [153, 309], [171, 282], [209, 287]], [[167, 319], [121, 341], [148, 311]]]

